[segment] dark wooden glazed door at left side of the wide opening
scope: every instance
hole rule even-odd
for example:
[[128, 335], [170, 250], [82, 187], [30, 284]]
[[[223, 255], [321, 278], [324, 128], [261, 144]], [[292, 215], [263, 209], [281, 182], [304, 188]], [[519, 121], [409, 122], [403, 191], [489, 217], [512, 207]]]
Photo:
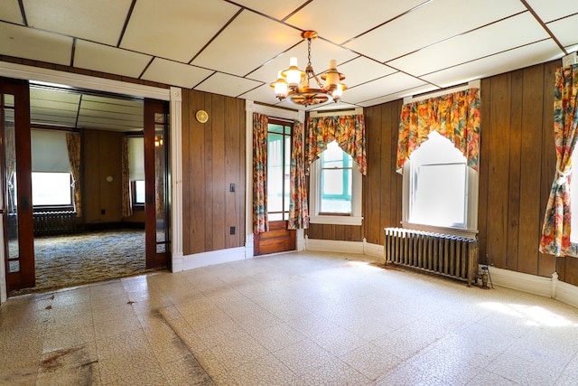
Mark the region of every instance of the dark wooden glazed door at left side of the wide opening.
[[29, 96], [28, 81], [0, 78], [1, 209], [8, 292], [35, 285]]

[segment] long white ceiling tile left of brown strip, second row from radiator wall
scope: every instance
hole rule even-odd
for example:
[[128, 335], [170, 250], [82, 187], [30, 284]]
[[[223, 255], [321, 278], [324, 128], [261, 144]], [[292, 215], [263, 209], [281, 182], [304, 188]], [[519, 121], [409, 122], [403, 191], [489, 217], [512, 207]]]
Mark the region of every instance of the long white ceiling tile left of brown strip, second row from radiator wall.
[[421, 76], [548, 37], [532, 14], [518, 14], [471, 33], [433, 44], [395, 61], [388, 61], [387, 64], [400, 71]]

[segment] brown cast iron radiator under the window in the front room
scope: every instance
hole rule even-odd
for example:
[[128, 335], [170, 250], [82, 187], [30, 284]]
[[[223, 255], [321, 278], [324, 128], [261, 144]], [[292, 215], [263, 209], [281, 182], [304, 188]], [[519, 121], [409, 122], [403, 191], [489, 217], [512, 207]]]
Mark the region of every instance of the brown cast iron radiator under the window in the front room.
[[402, 228], [386, 228], [385, 232], [386, 264], [457, 278], [468, 286], [476, 282], [478, 240]]

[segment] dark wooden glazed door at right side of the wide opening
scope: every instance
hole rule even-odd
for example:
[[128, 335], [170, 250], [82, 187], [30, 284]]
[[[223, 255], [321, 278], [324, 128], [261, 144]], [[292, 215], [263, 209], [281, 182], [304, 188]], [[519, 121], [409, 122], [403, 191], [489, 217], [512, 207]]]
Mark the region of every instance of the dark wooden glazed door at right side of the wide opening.
[[171, 268], [168, 104], [144, 99], [146, 268]]

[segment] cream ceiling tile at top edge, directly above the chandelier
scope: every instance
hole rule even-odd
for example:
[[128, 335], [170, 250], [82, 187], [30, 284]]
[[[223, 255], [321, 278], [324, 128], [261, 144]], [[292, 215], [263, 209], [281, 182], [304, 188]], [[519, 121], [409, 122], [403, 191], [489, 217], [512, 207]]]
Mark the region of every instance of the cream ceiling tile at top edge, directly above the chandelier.
[[287, 23], [343, 43], [422, 3], [424, 0], [314, 0], [288, 18]]

